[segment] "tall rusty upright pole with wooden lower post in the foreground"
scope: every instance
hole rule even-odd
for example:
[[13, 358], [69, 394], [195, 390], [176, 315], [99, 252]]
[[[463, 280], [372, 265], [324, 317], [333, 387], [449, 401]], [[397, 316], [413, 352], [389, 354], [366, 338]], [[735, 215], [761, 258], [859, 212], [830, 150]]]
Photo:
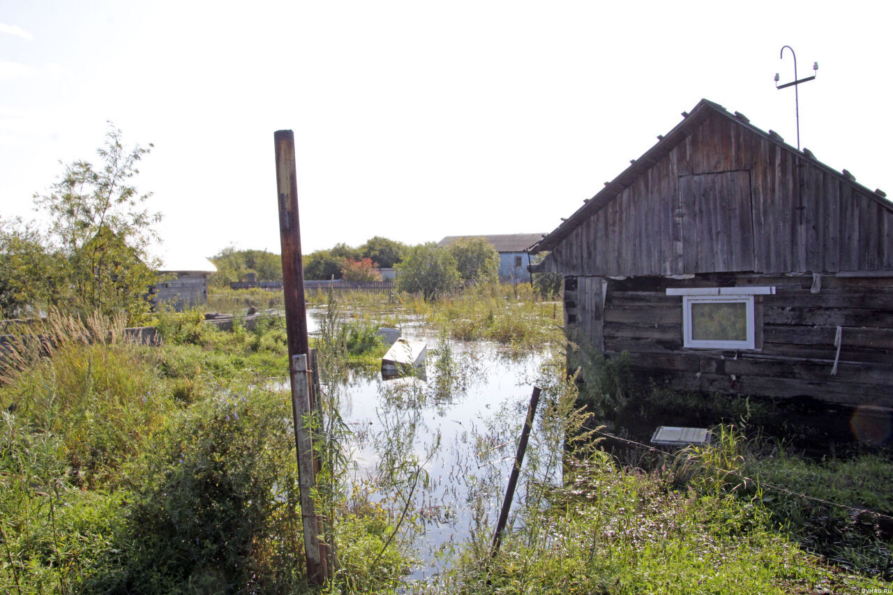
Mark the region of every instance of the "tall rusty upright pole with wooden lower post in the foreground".
[[313, 404], [310, 400], [310, 368], [307, 365], [309, 343], [304, 298], [304, 264], [297, 211], [295, 135], [291, 130], [277, 130], [273, 139], [276, 145], [276, 185], [279, 194], [282, 289], [285, 292], [285, 323], [288, 334], [288, 372], [291, 376], [291, 405], [295, 422], [304, 549], [307, 557], [307, 576], [311, 583], [321, 584], [328, 578], [328, 572], [320, 542], [319, 519], [314, 510], [312, 496], [316, 473], [313, 469], [312, 428], [307, 422], [313, 416]]

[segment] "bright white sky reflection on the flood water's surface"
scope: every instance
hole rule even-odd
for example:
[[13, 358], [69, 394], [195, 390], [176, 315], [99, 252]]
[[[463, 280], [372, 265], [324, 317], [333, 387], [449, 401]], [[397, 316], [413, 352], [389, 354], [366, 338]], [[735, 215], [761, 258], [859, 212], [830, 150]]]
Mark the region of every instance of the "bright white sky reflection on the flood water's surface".
[[[406, 330], [408, 339], [429, 342], [426, 365], [428, 382], [414, 379], [383, 381], [380, 376], [354, 376], [341, 390], [340, 413], [354, 430], [359, 443], [353, 460], [358, 478], [374, 476], [382, 457], [396, 434], [412, 440], [413, 453], [424, 461], [432, 445], [440, 447], [425, 464], [430, 478], [428, 489], [419, 488], [413, 496], [413, 508], [426, 519], [415, 545], [422, 560], [412, 578], [422, 579], [436, 572], [434, 550], [451, 541], [462, 543], [472, 527], [470, 485], [490, 485], [480, 490], [488, 515], [488, 534], [492, 535], [498, 507], [502, 504], [505, 483], [514, 457], [514, 436], [509, 444], [494, 449], [492, 462], [480, 465], [476, 445], [499, 446], [494, 418], [506, 404], [510, 415], [501, 425], [520, 426], [527, 411], [530, 391], [537, 378], [543, 355], [509, 355], [492, 345], [451, 343], [455, 378], [448, 395], [438, 391], [438, 345], [436, 339]], [[414, 422], [414, 436], [406, 436]], [[387, 434], [387, 435], [386, 435]], [[511, 455], [509, 457], [509, 455]], [[506, 458], [503, 458], [506, 457]], [[479, 466], [480, 465], [480, 466]], [[484, 482], [488, 479], [489, 482]], [[521, 490], [515, 497], [520, 499]], [[373, 496], [373, 499], [375, 497]], [[483, 529], [481, 529], [483, 531]]]

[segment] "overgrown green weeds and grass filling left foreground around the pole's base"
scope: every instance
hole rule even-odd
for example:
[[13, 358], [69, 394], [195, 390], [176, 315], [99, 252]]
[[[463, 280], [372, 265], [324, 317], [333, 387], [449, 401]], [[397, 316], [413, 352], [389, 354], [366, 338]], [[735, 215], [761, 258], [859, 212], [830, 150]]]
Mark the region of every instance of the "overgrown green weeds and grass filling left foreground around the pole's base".
[[[198, 320], [164, 315], [157, 348], [122, 339], [122, 318], [53, 314], [32, 329], [42, 341], [13, 343], [0, 591], [306, 590], [290, 399], [257, 386], [288, 369], [284, 331]], [[346, 575], [371, 591], [392, 583], [398, 551], [369, 564], [387, 517], [358, 503], [337, 516]]]

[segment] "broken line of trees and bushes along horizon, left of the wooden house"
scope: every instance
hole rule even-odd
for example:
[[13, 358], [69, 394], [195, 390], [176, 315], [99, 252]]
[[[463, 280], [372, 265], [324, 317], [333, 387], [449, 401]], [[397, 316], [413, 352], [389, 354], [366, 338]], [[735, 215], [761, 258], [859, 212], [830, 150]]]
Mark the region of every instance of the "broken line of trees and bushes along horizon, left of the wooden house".
[[[21, 218], [0, 219], [0, 316], [124, 312], [130, 323], [146, 320], [150, 288], [161, 265], [149, 248], [162, 215], [146, 208], [151, 193], [134, 184], [138, 163], [151, 148], [125, 147], [121, 130], [109, 124], [96, 163], [79, 160], [46, 193], [35, 194], [46, 229]], [[280, 281], [280, 255], [227, 247], [211, 258], [217, 286], [243, 281], [254, 272], [261, 281]], [[463, 238], [448, 247], [433, 242], [407, 246], [375, 236], [362, 246], [344, 243], [304, 256], [307, 280], [375, 281], [380, 269], [396, 268], [397, 289], [426, 298], [469, 284], [498, 281], [499, 255], [483, 238]], [[546, 284], [543, 285], [544, 280]], [[540, 276], [541, 293], [554, 293], [554, 280]]]

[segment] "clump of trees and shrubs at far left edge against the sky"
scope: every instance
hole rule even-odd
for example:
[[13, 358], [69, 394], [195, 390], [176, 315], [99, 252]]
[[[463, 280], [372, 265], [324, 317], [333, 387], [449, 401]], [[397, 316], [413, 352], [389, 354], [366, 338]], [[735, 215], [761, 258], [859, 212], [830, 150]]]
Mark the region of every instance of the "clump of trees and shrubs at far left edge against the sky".
[[133, 185], [149, 147], [123, 145], [110, 125], [96, 151], [101, 163], [65, 166], [47, 194], [34, 197], [48, 230], [20, 220], [0, 222], [0, 315], [126, 313], [139, 323], [149, 311], [146, 290], [157, 262], [147, 248], [161, 214], [145, 207], [150, 194]]

